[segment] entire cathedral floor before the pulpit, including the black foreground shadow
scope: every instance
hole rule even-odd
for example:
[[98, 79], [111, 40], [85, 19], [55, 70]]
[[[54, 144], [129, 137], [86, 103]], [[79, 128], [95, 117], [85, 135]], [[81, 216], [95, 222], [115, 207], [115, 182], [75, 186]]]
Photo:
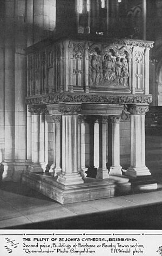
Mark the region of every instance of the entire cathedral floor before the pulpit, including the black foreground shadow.
[[20, 183], [0, 188], [1, 229], [162, 229], [158, 190], [61, 205]]

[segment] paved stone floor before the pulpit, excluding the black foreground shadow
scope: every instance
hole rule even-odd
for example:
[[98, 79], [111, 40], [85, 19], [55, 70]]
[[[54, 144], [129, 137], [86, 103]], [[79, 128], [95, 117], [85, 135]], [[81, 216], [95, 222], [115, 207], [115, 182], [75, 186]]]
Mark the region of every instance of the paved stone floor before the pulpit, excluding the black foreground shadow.
[[[61, 205], [20, 183], [0, 186], [0, 228], [162, 203], [162, 191]], [[72, 227], [71, 227], [72, 228]], [[78, 227], [79, 228], [79, 227]]]

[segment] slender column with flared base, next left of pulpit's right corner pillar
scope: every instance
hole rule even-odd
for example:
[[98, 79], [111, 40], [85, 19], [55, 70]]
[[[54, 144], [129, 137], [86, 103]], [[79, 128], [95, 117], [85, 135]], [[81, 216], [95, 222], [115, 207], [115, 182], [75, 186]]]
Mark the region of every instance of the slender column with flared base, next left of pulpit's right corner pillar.
[[112, 166], [110, 175], [121, 176], [122, 167], [120, 166], [120, 117], [113, 116], [112, 121]]

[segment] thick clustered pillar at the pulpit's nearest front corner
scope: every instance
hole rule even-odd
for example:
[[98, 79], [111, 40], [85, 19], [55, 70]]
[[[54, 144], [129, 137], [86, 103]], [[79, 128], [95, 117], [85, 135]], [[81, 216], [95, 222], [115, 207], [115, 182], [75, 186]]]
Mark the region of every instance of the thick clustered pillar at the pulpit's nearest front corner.
[[64, 110], [67, 114], [62, 115], [62, 173], [57, 182], [76, 185], [83, 183], [78, 173], [78, 115], [68, 113], [68, 108]]

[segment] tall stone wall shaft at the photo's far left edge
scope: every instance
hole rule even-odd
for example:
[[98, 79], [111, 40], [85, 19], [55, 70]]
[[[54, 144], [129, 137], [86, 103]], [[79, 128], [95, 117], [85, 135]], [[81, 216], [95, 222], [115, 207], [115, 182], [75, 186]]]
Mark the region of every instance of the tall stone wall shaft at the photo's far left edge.
[[5, 1], [4, 109], [5, 152], [3, 179], [11, 180], [15, 146], [15, 1]]

